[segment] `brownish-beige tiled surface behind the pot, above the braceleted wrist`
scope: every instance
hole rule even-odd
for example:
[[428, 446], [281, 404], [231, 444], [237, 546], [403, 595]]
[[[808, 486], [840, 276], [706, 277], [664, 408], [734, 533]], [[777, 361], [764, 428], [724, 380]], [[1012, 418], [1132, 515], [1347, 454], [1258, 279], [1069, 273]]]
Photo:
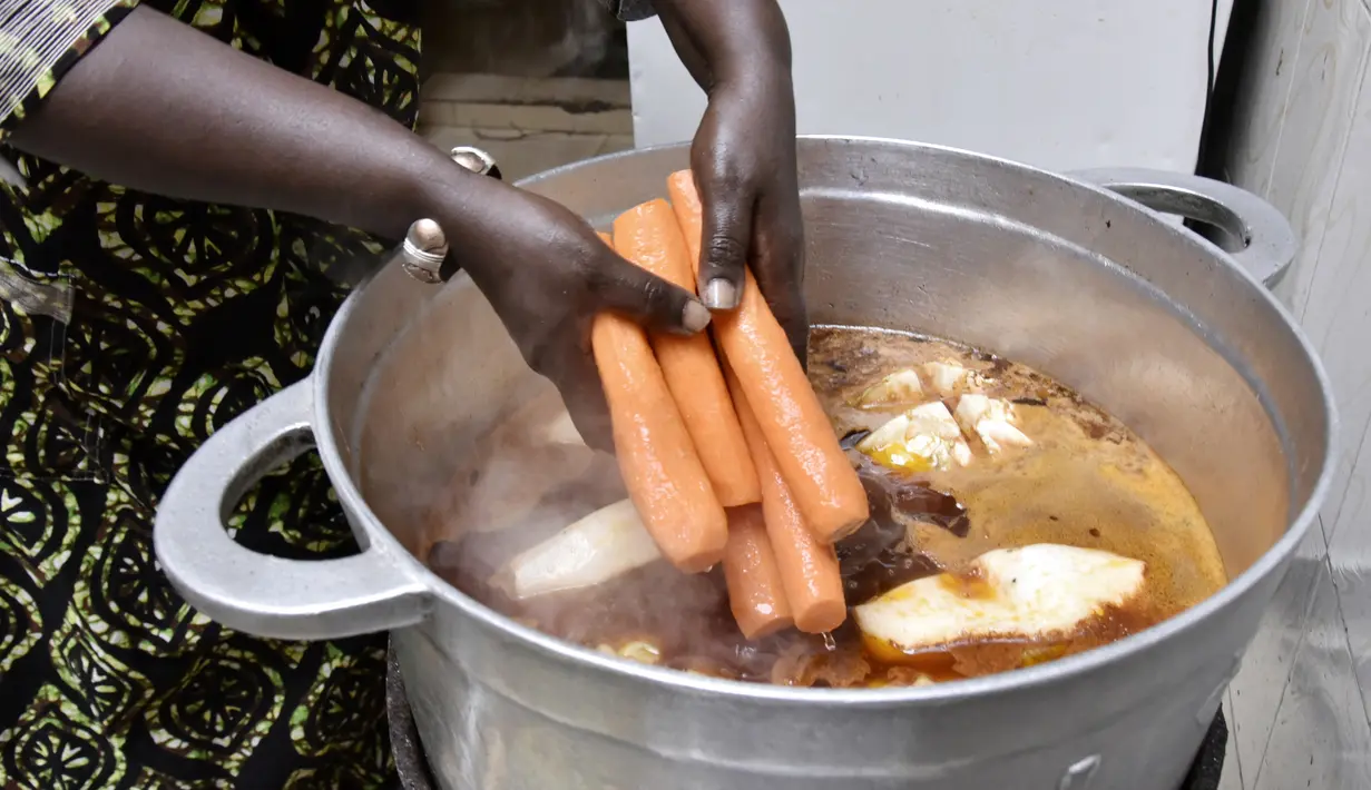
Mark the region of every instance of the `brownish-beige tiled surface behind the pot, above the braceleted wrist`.
[[435, 74], [420, 131], [440, 148], [485, 149], [511, 181], [633, 146], [622, 79]]

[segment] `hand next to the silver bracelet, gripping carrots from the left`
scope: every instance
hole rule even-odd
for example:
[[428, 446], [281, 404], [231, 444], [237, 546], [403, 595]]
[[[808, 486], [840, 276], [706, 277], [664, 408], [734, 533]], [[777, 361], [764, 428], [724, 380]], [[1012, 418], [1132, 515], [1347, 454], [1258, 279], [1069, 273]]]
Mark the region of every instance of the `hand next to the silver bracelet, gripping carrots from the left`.
[[694, 334], [709, 324], [709, 309], [616, 255], [562, 205], [491, 178], [457, 178], [461, 199], [436, 215], [450, 255], [495, 307], [529, 367], [561, 390], [585, 442], [611, 450], [591, 320], [611, 311], [650, 330]]

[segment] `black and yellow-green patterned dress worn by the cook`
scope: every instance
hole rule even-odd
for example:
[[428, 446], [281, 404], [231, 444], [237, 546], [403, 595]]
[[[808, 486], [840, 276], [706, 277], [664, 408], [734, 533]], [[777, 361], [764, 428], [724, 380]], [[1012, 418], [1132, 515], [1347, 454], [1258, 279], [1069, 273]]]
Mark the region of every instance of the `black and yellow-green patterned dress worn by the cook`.
[[[148, 1], [415, 120], [414, 1]], [[132, 4], [104, 3], [5, 125]], [[0, 77], [18, 44], [0, 37]], [[26, 181], [0, 189], [0, 789], [391, 785], [385, 637], [221, 627], [173, 591], [151, 541], [158, 497], [196, 446], [310, 372], [345, 296], [329, 267], [380, 245], [0, 152]], [[356, 550], [310, 455], [251, 492], [232, 526], [277, 556]]]

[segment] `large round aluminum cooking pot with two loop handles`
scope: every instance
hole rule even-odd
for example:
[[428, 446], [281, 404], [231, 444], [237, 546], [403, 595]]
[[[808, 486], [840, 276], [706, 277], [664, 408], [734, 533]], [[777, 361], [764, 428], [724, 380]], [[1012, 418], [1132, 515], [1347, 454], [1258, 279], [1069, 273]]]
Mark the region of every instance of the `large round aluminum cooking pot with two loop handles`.
[[[599, 226], [659, 196], [684, 146], [524, 182]], [[472, 439], [544, 382], [466, 278], [361, 288], [313, 377], [204, 444], [156, 522], [202, 612], [267, 637], [392, 630], [435, 774], [469, 789], [1172, 790], [1331, 472], [1328, 383], [1259, 277], [1294, 241], [1248, 193], [1193, 177], [1078, 179], [898, 141], [803, 138], [810, 315], [928, 331], [1035, 366], [1135, 429], [1190, 486], [1233, 582], [1121, 642], [921, 689], [716, 680], [562, 644], [411, 556]], [[1235, 255], [1141, 204], [1226, 226]], [[1241, 262], [1241, 263], [1239, 263]], [[254, 555], [223, 530], [245, 486], [317, 445], [358, 556]]]

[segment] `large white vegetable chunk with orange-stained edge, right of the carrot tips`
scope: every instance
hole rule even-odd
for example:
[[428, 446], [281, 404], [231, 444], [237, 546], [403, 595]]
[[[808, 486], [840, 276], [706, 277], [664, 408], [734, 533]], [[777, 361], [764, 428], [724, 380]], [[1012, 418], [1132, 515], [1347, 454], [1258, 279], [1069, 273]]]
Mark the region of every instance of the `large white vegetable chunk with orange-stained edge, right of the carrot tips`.
[[995, 549], [962, 574], [901, 585], [856, 607], [868, 641], [919, 653], [983, 639], [1064, 637], [1142, 590], [1146, 563], [1098, 549]]

